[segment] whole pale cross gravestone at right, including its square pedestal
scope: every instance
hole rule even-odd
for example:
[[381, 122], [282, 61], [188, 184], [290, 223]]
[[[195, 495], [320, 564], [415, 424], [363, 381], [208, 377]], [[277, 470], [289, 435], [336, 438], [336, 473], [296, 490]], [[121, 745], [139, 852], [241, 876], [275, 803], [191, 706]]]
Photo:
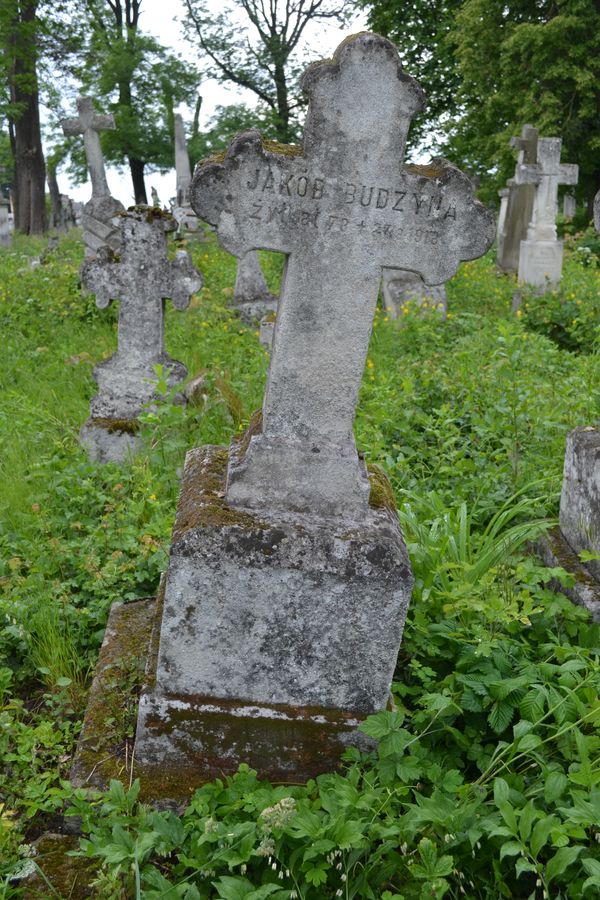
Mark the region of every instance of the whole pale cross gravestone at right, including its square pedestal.
[[516, 180], [536, 186], [527, 238], [519, 251], [519, 281], [537, 288], [560, 282], [563, 244], [556, 237], [558, 187], [577, 184], [579, 168], [561, 165], [560, 138], [539, 138], [537, 162], [518, 167]]

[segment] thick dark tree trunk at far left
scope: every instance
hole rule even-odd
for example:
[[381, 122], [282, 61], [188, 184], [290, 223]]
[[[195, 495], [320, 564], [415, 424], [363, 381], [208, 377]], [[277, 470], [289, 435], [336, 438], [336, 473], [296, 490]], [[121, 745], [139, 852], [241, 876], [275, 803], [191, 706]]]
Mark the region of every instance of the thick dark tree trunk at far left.
[[42, 150], [36, 71], [31, 45], [37, 0], [22, 0], [11, 35], [11, 101], [19, 112], [12, 118], [15, 154], [15, 230], [42, 234], [46, 230], [46, 169]]

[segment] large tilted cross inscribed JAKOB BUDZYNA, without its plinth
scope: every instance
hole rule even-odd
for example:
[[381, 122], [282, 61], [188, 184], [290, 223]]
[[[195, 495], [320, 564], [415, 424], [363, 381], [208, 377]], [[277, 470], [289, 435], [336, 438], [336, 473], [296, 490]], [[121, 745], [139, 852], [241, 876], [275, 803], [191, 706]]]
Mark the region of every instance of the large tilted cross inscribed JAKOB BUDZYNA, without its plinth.
[[449, 163], [403, 165], [423, 92], [389, 41], [344, 41], [302, 87], [302, 149], [248, 132], [192, 185], [225, 249], [288, 255], [262, 428], [232, 448], [227, 500], [361, 519], [369, 482], [353, 423], [382, 268], [440, 284], [485, 252], [494, 223]]

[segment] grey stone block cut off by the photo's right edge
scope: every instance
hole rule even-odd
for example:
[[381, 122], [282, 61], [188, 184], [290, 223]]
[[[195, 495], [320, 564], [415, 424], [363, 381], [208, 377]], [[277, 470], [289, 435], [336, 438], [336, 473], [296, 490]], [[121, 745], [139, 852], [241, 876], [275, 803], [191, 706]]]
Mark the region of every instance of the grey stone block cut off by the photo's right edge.
[[[600, 430], [575, 428], [567, 436], [560, 530], [576, 553], [600, 555]], [[600, 560], [586, 568], [600, 581]]]

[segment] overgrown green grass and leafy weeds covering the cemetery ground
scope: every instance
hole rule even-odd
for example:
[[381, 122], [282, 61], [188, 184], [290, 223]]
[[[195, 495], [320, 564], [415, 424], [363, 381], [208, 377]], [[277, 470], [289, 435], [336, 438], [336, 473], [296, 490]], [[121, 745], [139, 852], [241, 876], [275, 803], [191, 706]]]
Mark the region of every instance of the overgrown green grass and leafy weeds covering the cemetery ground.
[[[520, 315], [492, 254], [448, 284], [447, 322], [377, 313], [357, 443], [391, 478], [416, 577], [395, 709], [340, 773], [282, 786], [242, 766], [181, 817], [130, 784], [135, 666], [102, 748], [125, 787], [90, 796], [68, 775], [108, 610], [156, 592], [184, 453], [244, 428], [267, 354], [228, 309], [235, 261], [190, 238], [205, 289], [168, 314], [166, 345], [203, 376], [194, 401], [142, 417], [131, 465], [90, 463], [78, 430], [117, 304], [81, 297], [76, 233], [35, 268], [43, 240], [0, 251], [0, 896], [69, 812], [89, 865], [66, 888], [38, 857], [28, 896], [600, 896], [600, 630], [528, 552], [557, 515], [568, 431], [600, 415], [590, 235], [568, 242], [560, 293]], [[280, 260], [262, 261], [276, 292]]]

